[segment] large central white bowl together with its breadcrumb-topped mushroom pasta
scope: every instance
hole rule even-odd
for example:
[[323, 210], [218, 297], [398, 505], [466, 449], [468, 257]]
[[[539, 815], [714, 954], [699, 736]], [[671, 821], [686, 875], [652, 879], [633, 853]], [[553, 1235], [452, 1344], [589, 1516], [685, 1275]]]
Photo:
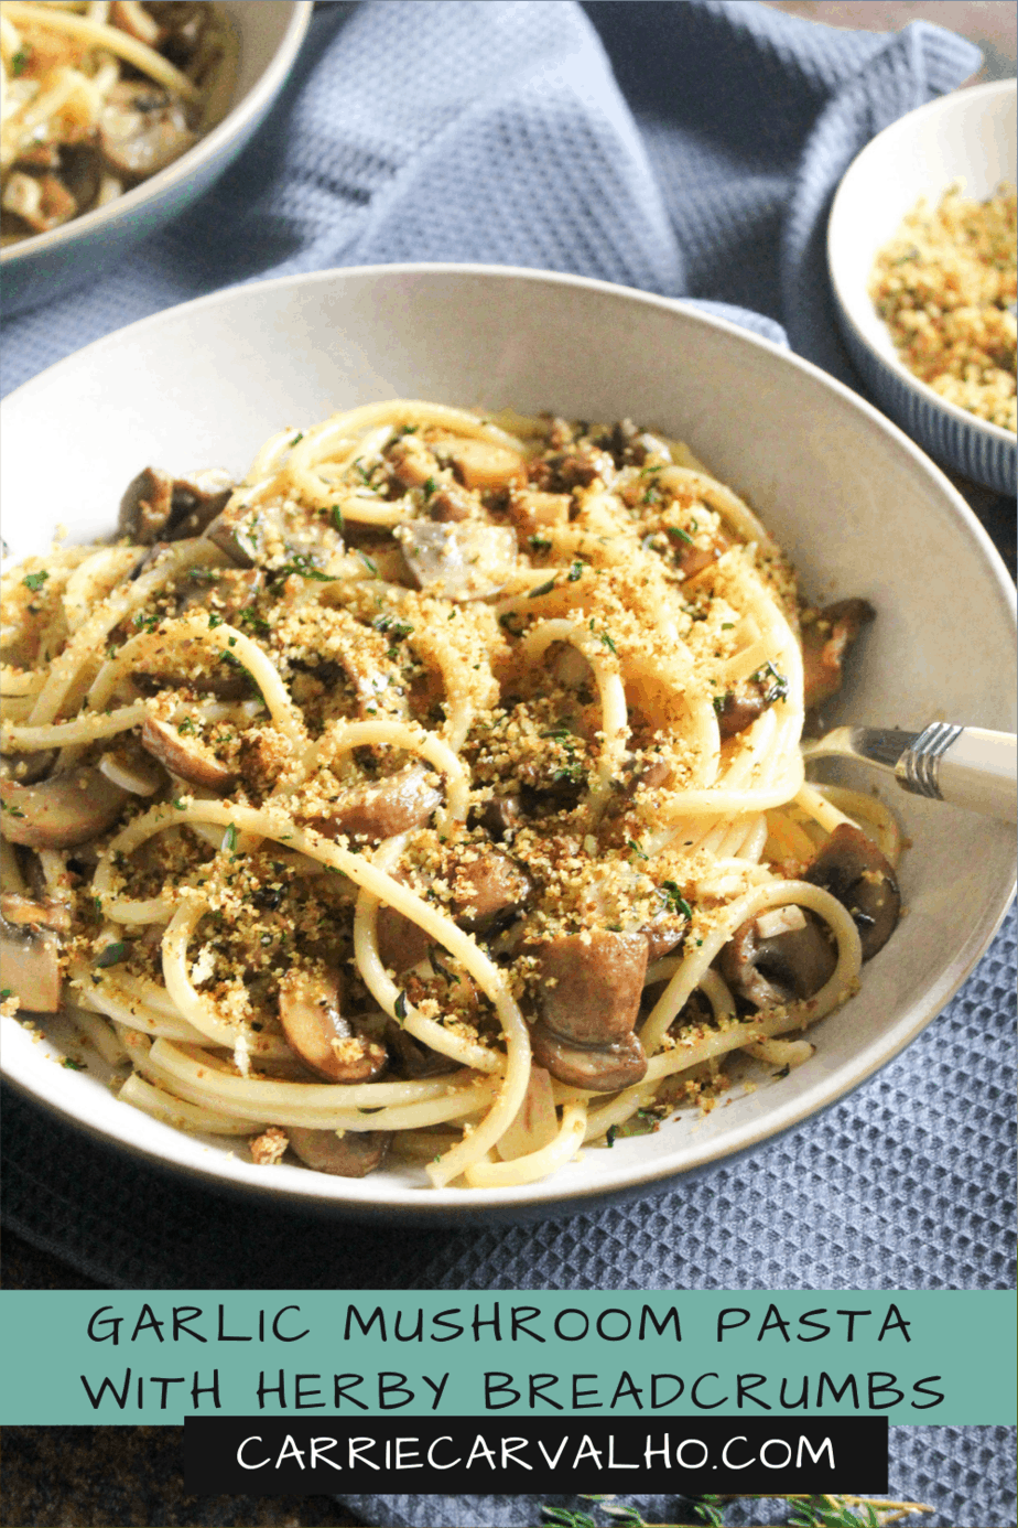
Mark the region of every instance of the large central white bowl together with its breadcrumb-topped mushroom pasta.
[[125, 1151], [411, 1221], [649, 1192], [876, 1073], [1003, 917], [1000, 824], [806, 778], [818, 718], [1007, 727], [1013, 588], [775, 345], [334, 270], [3, 426], [3, 1067]]

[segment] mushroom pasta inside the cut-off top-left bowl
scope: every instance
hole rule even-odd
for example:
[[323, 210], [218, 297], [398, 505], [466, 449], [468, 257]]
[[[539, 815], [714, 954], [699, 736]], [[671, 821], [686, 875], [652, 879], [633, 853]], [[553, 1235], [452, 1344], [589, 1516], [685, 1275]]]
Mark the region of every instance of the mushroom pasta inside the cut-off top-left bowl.
[[0, 241], [121, 197], [230, 104], [237, 41], [208, 0], [0, 0]]

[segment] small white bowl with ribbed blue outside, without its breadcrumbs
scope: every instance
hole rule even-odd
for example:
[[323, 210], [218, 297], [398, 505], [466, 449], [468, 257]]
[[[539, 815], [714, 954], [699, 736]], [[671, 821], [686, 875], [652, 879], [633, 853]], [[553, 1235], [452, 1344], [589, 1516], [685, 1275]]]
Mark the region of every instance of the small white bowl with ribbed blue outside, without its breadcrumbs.
[[931, 101], [879, 133], [849, 167], [830, 208], [827, 267], [841, 332], [881, 406], [937, 461], [998, 494], [1015, 492], [1015, 435], [949, 403], [899, 361], [868, 293], [878, 252], [920, 197], [955, 182], [986, 200], [1016, 179], [1015, 81]]

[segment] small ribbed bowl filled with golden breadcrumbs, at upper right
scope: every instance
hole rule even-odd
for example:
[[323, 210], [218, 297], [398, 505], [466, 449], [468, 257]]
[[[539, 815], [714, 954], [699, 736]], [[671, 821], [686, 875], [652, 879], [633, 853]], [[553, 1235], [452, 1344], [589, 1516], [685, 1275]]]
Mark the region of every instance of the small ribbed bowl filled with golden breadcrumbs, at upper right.
[[1015, 81], [960, 90], [873, 139], [827, 229], [841, 330], [936, 460], [1015, 492]]

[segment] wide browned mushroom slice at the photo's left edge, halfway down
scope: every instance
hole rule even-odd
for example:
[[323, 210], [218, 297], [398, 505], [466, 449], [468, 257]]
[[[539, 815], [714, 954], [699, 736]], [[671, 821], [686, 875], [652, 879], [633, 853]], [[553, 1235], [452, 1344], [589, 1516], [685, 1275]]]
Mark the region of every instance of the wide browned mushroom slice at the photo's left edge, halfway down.
[[87, 764], [61, 770], [37, 785], [0, 781], [3, 836], [32, 850], [87, 843], [121, 814], [128, 793]]

